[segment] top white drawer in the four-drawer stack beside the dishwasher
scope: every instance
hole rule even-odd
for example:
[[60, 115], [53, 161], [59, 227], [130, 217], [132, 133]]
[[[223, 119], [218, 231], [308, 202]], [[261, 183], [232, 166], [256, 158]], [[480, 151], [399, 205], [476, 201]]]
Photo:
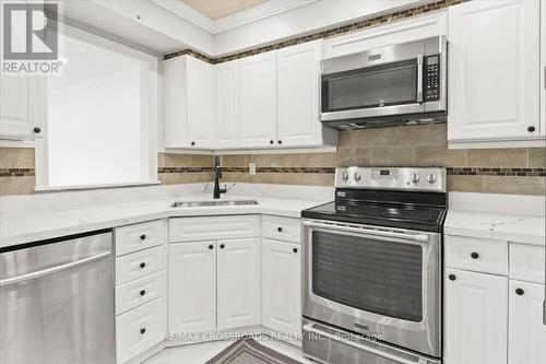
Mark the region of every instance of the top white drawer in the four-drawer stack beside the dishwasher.
[[116, 228], [116, 257], [162, 245], [166, 221], [156, 220]]

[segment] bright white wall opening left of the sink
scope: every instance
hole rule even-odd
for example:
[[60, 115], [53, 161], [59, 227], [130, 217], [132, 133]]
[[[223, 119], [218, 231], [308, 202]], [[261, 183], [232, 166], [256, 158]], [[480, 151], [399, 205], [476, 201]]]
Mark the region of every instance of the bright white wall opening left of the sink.
[[157, 59], [67, 25], [62, 37], [36, 189], [155, 183]]

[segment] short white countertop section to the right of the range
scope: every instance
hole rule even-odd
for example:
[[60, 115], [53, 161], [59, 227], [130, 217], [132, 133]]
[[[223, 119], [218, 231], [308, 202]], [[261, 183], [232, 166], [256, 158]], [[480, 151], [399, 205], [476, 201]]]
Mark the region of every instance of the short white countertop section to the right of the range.
[[545, 245], [544, 197], [452, 193], [446, 235]]

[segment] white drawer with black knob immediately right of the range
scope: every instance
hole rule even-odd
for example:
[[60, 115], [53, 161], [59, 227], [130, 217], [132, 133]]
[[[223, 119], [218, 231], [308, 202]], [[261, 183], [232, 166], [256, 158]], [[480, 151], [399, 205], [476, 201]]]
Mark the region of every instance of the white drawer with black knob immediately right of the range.
[[446, 236], [446, 266], [508, 275], [508, 242]]

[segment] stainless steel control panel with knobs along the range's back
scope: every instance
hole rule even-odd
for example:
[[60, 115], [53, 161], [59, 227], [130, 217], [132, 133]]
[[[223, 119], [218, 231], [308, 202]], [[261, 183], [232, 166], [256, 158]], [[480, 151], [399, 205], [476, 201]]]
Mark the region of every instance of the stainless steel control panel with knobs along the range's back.
[[446, 168], [337, 167], [336, 188], [446, 192]]

